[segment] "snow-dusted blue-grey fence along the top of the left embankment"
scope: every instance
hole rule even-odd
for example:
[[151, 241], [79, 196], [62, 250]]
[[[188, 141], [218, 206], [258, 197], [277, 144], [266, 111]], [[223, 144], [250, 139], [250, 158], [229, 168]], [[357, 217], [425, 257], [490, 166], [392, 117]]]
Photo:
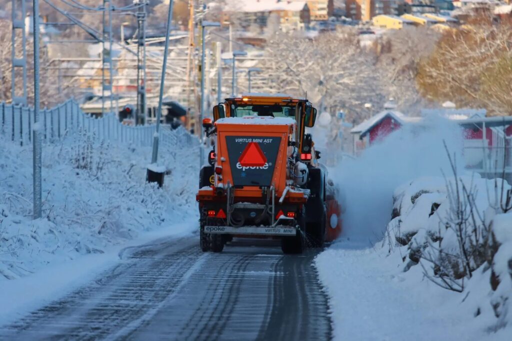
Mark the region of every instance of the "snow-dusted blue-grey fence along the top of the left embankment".
[[[103, 117], [83, 113], [74, 100], [68, 100], [53, 108], [40, 111], [39, 124], [42, 139], [52, 143], [79, 131], [94, 134], [96, 139], [118, 142], [134, 147], [151, 147], [155, 134], [155, 125], [130, 126], [119, 122], [113, 113]], [[32, 142], [34, 126], [34, 109], [27, 106], [0, 103], [0, 133], [14, 143], [24, 146]], [[169, 125], [161, 125], [160, 150], [172, 150], [176, 146], [199, 145], [196, 137], [184, 128], [172, 129]]]

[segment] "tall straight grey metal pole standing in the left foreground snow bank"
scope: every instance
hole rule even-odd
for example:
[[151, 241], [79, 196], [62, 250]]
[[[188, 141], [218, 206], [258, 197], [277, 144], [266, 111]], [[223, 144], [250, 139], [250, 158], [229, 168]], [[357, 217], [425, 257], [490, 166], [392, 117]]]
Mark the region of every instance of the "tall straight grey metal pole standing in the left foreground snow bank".
[[41, 190], [41, 127], [39, 120], [39, 0], [33, 0], [34, 19], [34, 126], [33, 126], [33, 191], [34, 191], [34, 219], [41, 217], [42, 190]]

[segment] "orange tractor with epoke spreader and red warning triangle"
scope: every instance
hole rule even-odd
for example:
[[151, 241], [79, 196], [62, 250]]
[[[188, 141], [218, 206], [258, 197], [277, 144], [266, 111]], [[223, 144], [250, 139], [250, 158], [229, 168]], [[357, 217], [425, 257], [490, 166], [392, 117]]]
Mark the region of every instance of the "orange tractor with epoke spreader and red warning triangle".
[[305, 131], [316, 119], [308, 100], [248, 94], [213, 114], [202, 122], [215, 147], [196, 196], [203, 251], [222, 252], [236, 236], [279, 238], [285, 254], [297, 254], [339, 235], [334, 186]]

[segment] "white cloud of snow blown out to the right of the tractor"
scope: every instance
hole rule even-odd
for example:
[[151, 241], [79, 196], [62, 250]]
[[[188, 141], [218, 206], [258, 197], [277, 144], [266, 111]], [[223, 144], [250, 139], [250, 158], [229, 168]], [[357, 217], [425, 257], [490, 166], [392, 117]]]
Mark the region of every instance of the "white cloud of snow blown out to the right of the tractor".
[[344, 236], [365, 244], [381, 239], [398, 186], [419, 176], [442, 176], [441, 170], [450, 172], [443, 141], [456, 153], [458, 168], [463, 170], [462, 129], [431, 117], [424, 125], [402, 127], [331, 171], [342, 190]]

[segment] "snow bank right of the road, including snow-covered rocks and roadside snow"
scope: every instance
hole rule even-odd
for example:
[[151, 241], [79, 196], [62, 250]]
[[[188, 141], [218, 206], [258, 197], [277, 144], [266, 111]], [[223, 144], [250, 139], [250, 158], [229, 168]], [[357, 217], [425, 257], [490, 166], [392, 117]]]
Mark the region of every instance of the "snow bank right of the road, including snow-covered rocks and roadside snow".
[[[461, 255], [453, 226], [447, 228], [456, 207], [447, 188], [454, 181], [421, 177], [399, 186], [384, 239], [366, 248], [344, 239], [316, 258], [331, 298], [335, 339], [510, 339], [512, 211], [499, 213], [500, 179], [458, 178], [474, 194], [473, 204], [467, 205], [474, 207], [476, 228], [471, 211], [465, 211], [470, 223], [462, 242], [472, 255], [472, 275], [454, 280], [462, 284], [462, 292], [439, 286], [439, 275], [446, 270], [440, 262], [443, 253]], [[505, 201], [507, 190], [504, 181]], [[471, 248], [475, 235], [478, 247]], [[454, 259], [447, 264], [452, 276], [464, 272]], [[448, 276], [444, 279], [457, 287]]]

